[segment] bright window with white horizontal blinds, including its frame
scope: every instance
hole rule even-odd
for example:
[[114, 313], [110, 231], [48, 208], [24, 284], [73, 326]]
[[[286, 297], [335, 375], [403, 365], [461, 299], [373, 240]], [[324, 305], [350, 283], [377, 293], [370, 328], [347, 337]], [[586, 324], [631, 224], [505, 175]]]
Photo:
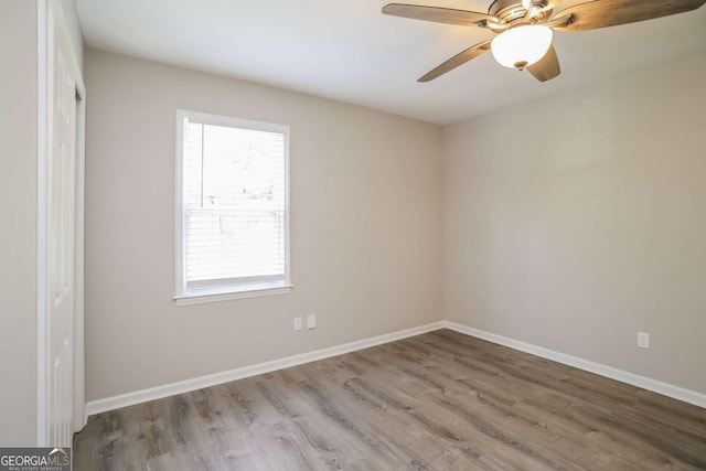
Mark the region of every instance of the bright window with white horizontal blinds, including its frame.
[[176, 113], [176, 302], [288, 292], [289, 127]]

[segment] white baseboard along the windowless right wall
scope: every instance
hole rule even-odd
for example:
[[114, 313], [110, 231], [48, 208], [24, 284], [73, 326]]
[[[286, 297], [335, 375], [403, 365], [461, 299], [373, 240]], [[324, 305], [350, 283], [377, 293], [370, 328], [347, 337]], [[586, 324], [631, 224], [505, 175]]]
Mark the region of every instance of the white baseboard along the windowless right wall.
[[467, 335], [475, 336], [478, 339], [486, 340], [489, 342], [498, 343], [500, 345], [509, 346], [521, 352], [531, 353], [533, 355], [541, 356], [543, 358], [553, 360], [557, 363], [574, 366], [579, 370], [584, 370], [590, 373], [596, 373], [601, 376], [609, 377], [611, 379], [627, 383], [633, 386], [641, 387], [643, 389], [652, 390], [654, 393], [662, 394], [664, 396], [673, 397], [675, 399], [683, 400], [685, 403], [694, 404], [695, 406], [706, 407], [706, 394], [702, 394], [695, 390], [685, 389], [673, 384], [663, 383], [661, 381], [652, 379], [646, 376], [640, 376], [634, 373], [627, 372], [624, 370], [618, 370], [612, 366], [607, 366], [600, 363], [590, 362], [588, 360], [579, 358], [577, 356], [567, 355], [565, 353], [556, 352], [554, 350], [544, 349], [542, 346], [532, 345], [530, 343], [520, 342], [514, 339], [498, 335], [491, 332], [485, 332], [479, 329], [473, 329], [468, 325], [462, 325], [456, 322], [443, 321], [446, 329], [453, 330]]

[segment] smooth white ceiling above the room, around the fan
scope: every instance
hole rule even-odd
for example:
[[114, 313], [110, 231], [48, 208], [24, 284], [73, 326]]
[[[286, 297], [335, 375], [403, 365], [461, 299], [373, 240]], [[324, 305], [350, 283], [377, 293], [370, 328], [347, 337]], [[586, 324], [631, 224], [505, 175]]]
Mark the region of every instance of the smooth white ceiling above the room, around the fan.
[[[404, 2], [404, 0], [403, 0]], [[485, 12], [490, 0], [408, 0]], [[436, 81], [417, 78], [489, 39], [479, 28], [383, 15], [386, 0], [76, 0], [88, 46], [264, 83], [437, 124], [706, 52], [706, 7], [560, 33], [561, 75], [539, 83], [490, 53]], [[565, 1], [566, 4], [576, 1]]]

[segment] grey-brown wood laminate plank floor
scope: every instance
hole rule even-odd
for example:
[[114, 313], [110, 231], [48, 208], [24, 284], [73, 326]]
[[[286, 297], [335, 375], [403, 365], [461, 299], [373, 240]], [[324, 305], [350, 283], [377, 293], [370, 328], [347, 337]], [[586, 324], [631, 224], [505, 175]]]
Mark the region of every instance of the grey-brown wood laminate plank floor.
[[440, 330], [92, 416], [75, 470], [706, 469], [706, 409]]

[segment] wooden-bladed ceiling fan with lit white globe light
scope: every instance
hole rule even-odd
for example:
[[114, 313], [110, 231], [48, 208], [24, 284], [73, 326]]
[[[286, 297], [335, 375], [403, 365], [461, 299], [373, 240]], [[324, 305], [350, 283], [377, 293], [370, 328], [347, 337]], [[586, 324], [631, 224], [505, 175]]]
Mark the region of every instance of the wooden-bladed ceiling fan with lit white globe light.
[[559, 60], [552, 45], [553, 30], [584, 31], [634, 23], [696, 10], [706, 0], [494, 0], [488, 13], [450, 8], [389, 3], [383, 13], [436, 23], [478, 26], [496, 34], [474, 44], [422, 75], [429, 82], [468, 61], [491, 51], [505, 67], [526, 68], [539, 82], [560, 74]]

